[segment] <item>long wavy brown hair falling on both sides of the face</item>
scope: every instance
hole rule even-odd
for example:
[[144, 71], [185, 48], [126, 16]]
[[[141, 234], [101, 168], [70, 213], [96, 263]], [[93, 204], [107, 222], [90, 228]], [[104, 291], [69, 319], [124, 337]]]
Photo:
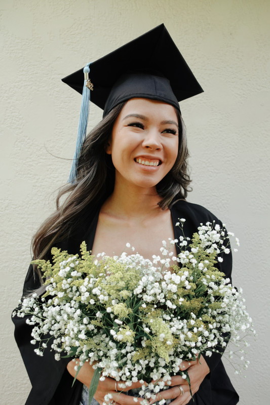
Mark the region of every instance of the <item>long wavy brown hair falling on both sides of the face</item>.
[[[95, 210], [112, 193], [114, 167], [105, 146], [111, 135], [113, 124], [125, 103], [114, 107], [89, 133], [83, 144], [78, 161], [77, 178], [74, 184], [63, 186], [56, 198], [56, 211], [41, 225], [32, 239], [34, 259], [47, 258], [51, 247], [72, 236], [78, 220], [86, 210]], [[185, 128], [180, 112], [175, 109], [179, 126], [178, 155], [173, 168], [157, 184], [162, 197], [159, 206], [165, 210], [175, 198], [185, 199], [190, 191], [188, 175]], [[60, 199], [67, 195], [64, 202]]]

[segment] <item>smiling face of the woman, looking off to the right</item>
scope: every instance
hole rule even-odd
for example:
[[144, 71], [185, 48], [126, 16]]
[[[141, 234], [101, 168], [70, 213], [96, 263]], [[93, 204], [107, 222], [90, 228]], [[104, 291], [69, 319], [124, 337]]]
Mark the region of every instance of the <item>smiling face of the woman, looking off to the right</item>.
[[115, 184], [155, 187], [175, 163], [178, 135], [173, 106], [142, 98], [129, 100], [114, 123], [106, 149], [115, 167]]

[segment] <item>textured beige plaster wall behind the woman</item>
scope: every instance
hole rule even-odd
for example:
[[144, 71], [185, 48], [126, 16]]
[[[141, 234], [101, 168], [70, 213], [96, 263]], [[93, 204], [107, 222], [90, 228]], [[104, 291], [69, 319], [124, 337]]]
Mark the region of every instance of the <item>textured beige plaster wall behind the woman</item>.
[[[1, 0], [0, 12], [1, 403], [30, 389], [10, 315], [73, 157], [81, 98], [61, 78], [164, 22], [205, 90], [181, 103], [188, 199], [239, 236], [234, 282], [258, 332], [246, 378], [225, 365], [241, 405], [268, 404], [269, 0]], [[92, 105], [89, 129], [101, 115]]]

